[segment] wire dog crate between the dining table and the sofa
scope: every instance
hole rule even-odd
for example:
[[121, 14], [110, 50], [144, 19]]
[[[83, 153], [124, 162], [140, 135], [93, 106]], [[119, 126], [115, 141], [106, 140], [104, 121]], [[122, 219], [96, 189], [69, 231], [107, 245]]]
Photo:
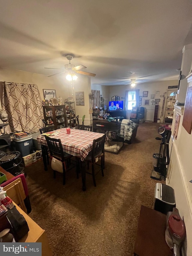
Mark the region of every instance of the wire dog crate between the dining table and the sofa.
[[96, 132], [106, 133], [104, 149], [106, 152], [118, 154], [123, 146], [124, 141], [124, 126], [119, 129], [110, 128], [110, 130], [97, 128]]

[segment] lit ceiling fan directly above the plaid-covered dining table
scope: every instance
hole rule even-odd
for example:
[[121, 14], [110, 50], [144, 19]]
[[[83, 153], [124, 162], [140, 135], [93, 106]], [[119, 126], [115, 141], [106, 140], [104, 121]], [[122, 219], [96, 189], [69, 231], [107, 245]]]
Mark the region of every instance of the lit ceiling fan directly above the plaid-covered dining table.
[[93, 74], [93, 73], [80, 71], [79, 69], [87, 68], [87, 67], [85, 67], [83, 65], [75, 66], [75, 65], [71, 64], [70, 61], [73, 59], [73, 55], [72, 54], [66, 54], [65, 57], [68, 59], [69, 64], [65, 64], [65, 68], [48, 68], [48, 69], [61, 69], [61, 70], [63, 70], [62, 72], [50, 75], [48, 77], [52, 77], [52, 76], [55, 76], [57, 74], [61, 74], [61, 73], [65, 73], [65, 72], [68, 72], [68, 75], [71, 77], [72, 80], [75, 80], [74, 78], [76, 77], [73, 72], [78, 73], [78, 74], [82, 74], [82, 75], [91, 76], [91, 77], [95, 77], [96, 76], [96, 74]]

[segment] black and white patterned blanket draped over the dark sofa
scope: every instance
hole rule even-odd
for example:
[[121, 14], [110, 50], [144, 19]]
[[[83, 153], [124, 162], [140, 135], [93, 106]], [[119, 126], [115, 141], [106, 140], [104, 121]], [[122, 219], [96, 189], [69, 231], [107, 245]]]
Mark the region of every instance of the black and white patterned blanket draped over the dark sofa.
[[[124, 138], [124, 140], [131, 140], [132, 133], [136, 128], [136, 125], [133, 121], [129, 119], [123, 119], [121, 122], [121, 132], [120, 137]], [[123, 129], [124, 126], [124, 129]]]

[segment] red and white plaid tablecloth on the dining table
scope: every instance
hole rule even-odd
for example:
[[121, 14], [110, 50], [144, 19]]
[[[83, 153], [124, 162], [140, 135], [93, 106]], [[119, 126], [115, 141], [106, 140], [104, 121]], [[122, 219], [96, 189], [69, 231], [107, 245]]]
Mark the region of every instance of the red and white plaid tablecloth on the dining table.
[[[71, 133], [67, 134], [66, 128], [58, 129], [59, 134], [49, 136], [55, 139], [61, 139], [63, 151], [81, 158], [83, 161], [92, 150], [93, 140], [102, 137], [103, 133], [82, 131], [78, 129], [70, 129]], [[45, 136], [37, 137], [38, 143], [47, 146]]]

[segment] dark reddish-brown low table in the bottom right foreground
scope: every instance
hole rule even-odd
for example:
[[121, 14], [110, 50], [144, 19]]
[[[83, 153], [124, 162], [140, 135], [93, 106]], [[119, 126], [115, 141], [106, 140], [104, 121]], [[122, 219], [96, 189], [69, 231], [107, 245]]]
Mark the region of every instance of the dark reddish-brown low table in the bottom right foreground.
[[165, 241], [167, 215], [141, 206], [134, 255], [173, 256]]

